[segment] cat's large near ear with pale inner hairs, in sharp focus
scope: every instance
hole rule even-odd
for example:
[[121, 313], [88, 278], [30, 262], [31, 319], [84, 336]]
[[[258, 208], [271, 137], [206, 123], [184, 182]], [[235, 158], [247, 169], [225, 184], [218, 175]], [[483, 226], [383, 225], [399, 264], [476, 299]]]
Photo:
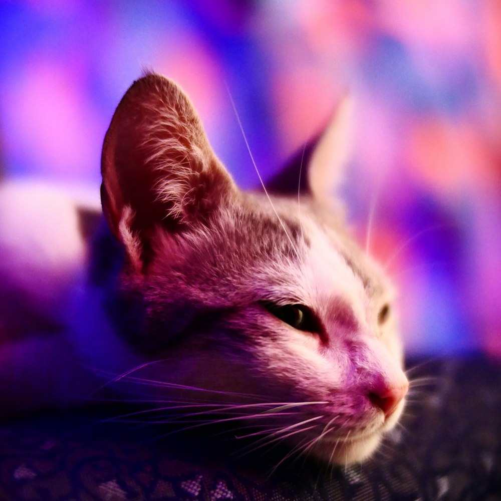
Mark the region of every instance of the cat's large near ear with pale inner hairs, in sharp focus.
[[155, 227], [203, 224], [236, 190], [187, 96], [155, 74], [134, 82], [120, 101], [104, 139], [101, 173], [108, 225], [143, 262]]

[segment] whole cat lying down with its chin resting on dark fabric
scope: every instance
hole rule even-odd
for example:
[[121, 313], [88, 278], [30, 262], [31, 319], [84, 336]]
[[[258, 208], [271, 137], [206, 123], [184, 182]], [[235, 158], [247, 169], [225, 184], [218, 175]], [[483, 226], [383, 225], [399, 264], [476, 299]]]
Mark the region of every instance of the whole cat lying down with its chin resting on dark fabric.
[[369, 457], [408, 381], [393, 287], [334, 196], [349, 107], [291, 167], [295, 188], [278, 176], [273, 196], [244, 192], [185, 93], [147, 73], [104, 139], [106, 223], [60, 192], [0, 188], [0, 415], [138, 385], [157, 407], [237, 416], [291, 451]]

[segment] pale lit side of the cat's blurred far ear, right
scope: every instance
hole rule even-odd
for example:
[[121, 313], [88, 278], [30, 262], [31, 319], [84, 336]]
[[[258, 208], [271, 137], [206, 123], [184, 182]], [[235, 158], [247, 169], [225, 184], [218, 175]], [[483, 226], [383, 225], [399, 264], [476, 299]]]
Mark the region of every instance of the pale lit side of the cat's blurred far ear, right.
[[308, 186], [314, 198], [332, 199], [351, 154], [353, 99], [346, 94], [315, 145], [308, 164]]

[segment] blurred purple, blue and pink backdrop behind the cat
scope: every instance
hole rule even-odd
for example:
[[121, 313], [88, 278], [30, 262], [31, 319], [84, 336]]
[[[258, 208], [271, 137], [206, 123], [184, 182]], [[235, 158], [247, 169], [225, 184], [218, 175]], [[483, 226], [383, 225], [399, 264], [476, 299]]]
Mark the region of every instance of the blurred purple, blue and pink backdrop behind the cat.
[[[100, 183], [104, 134], [145, 68], [187, 91], [220, 159], [258, 187], [355, 97], [342, 188], [393, 274], [411, 355], [501, 356], [498, 0], [0, 0], [5, 178]], [[372, 214], [372, 216], [370, 216]]]

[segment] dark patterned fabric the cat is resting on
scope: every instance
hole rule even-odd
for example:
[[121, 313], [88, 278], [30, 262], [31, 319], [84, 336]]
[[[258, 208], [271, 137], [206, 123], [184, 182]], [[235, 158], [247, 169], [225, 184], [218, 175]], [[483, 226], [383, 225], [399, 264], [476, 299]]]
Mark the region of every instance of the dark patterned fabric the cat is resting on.
[[158, 430], [93, 410], [4, 425], [0, 499], [501, 499], [501, 365], [477, 357], [417, 372], [433, 386], [419, 388], [403, 426], [362, 465], [301, 458], [271, 474], [280, 448], [237, 461], [231, 441], [153, 439]]

